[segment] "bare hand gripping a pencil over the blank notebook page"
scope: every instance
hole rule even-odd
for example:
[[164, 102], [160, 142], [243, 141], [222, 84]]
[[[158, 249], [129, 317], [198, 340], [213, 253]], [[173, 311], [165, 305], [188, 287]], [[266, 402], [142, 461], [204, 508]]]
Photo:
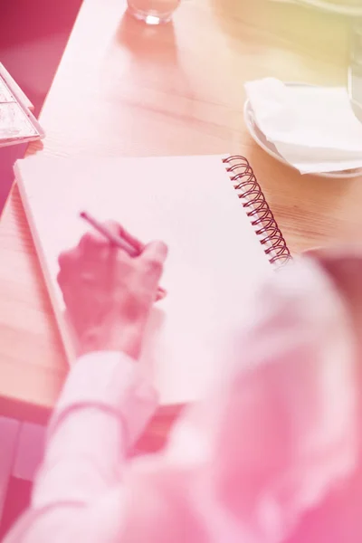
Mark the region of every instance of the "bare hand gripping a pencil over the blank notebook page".
[[58, 274], [79, 338], [78, 356], [106, 350], [136, 359], [150, 310], [155, 300], [166, 295], [158, 281], [167, 246], [162, 242], [144, 245], [117, 223], [99, 223], [86, 213], [81, 217], [93, 230], [76, 247], [62, 252]]

